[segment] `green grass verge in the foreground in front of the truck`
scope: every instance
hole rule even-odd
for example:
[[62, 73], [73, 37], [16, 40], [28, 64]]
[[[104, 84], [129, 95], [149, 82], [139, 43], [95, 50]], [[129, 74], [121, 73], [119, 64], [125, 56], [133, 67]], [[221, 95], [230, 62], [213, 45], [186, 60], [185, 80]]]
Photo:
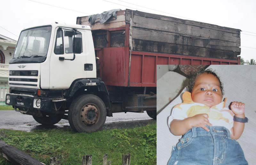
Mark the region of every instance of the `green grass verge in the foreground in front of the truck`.
[[[131, 154], [133, 165], [156, 164], [156, 123], [130, 129], [76, 133], [67, 129], [22, 132], [0, 130], [0, 139], [40, 162], [57, 157], [60, 164], [81, 164], [83, 155], [92, 155], [93, 165], [102, 165], [108, 154], [112, 165], [122, 164], [122, 155]], [[0, 164], [11, 164], [0, 156]]]

